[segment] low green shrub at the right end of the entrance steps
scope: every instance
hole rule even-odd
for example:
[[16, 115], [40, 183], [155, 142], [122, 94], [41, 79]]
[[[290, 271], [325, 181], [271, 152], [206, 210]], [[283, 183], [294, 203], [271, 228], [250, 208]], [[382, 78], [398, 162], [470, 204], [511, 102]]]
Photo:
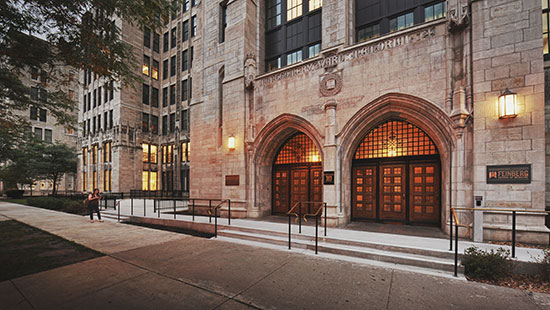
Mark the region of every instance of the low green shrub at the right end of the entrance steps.
[[497, 280], [508, 275], [510, 251], [498, 248], [496, 251], [469, 247], [462, 256], [464, 273], [472, 279]]

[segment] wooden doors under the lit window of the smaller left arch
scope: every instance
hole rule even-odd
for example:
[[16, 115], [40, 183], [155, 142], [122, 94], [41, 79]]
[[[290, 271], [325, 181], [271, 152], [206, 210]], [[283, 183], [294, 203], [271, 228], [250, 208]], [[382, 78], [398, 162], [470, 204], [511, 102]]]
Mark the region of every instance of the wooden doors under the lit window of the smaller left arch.
[[284, 214], [299, 201], [323, 201], [321, 165], [274, 166], [273, 214]]

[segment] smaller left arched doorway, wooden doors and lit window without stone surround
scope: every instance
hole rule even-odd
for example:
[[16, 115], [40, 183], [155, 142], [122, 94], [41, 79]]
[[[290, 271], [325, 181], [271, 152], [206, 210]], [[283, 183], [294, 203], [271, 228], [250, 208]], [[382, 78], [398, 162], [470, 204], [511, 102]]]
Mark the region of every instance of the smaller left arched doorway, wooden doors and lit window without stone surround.
[[304, 133], [291, 136], [273, 162], [272, 213], [286, 213], [299, 201], [322, 201], [322, 160], [313, 141]]

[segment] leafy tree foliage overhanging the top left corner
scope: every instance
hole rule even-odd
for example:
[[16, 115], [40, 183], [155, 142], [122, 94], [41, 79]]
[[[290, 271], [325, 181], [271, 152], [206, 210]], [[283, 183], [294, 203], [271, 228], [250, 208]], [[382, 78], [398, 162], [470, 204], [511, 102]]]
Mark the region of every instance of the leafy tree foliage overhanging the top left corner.
[[[140, 79], [134, 54], [115, 20], [157, 29], [171, 6], [170, 0], [0, 0], [0, 135], [22, 132], [26, 122], [14, 112], [31, 104], [48, 110], [59, 124], [74, 125], [75, 102], [61, 87], [76, 78], [67, 66], [133, 85]], [[31, 101], [21, 80], [33, 68], [44, 71], [42, 82], [57, 89], [47, 100]], [[0, 161], [14, 144], [0, 137]]]

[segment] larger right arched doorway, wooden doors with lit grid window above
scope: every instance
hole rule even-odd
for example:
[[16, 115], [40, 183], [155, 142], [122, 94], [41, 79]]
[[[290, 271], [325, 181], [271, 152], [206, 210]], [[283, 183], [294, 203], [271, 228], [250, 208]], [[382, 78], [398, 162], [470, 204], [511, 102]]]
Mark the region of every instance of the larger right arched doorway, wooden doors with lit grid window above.
[[374, 127], [353, 157], [352, 219], [439, 224], [440, 168], [438, 149], [420, 128], [398, 119]]

